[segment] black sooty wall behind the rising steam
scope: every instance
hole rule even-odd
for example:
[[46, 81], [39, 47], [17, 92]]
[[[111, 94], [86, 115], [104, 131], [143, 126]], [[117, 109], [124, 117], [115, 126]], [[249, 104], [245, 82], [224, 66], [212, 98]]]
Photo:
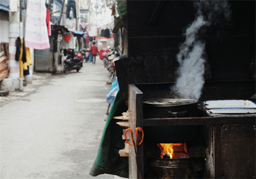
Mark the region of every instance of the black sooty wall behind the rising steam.
[[[220, 8], [224, 13], [219, 13], [216, 8], [218, 6], [214, 4], [209, 4], [210, 8], [204, 4], [205, 7], [201, 8], [195, 3], [198, 2], [127, 1], [128, 56], [136, 59], [141, 58], [141, 54], [152, 54], [160, 50], [155, 60], [150, 60], [151, 64], [144, 65], [148, 71], [158, 70], [158, 77], [154, 78], [166, 76], [169, 79], [163, 77], [159, 82], [174, 82], [178, 66], [176, 55], [186, 40], [184, 33], [201, 14], [208, 24], [199, 28], [194, 34], [194, 40], [204, 41], [205, 73], [208, 74], [206, 79], [252, 79], [255, 73], [252, 64], [255, 61], [255, 2], [228, 1], [225, 9]], [[171, 49], [172, 52], [168, 51], [166, 57], [163, 49]], [[166, 68], [168, 61], [174, 64], [169, 65], [169, 70]], [[137, 68], [140, 71], [140, 67]], [[143, 79], [140, 80], [143, 82]]]

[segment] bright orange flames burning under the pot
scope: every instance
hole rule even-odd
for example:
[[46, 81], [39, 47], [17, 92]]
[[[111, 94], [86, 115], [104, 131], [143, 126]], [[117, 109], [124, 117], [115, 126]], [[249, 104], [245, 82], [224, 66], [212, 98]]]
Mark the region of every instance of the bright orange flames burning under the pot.
[[186, 143], [171, 143], [171, 144], [157, 144], [157, 146], [161, 150], [161, 158], [163, 159], [163, 153], [166, 153], [170, 156], [170, 159], [174, 158], [174, 146], [183, 146], [183, 152], [182, 155], [187, 155], [187, 147]]

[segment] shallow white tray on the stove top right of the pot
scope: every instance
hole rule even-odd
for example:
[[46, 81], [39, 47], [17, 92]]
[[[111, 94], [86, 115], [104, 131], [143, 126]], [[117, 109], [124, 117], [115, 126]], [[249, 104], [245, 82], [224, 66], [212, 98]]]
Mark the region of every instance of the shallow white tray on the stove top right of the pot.
[[249, 100], [213, 100], [203, 101], [207, 113], [248, 114], [256, 113], [256, 104]]

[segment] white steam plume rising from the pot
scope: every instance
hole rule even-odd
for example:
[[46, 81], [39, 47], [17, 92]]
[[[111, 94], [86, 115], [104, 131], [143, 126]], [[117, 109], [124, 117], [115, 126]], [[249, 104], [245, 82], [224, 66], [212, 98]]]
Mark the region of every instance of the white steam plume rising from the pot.
[[198, 11], [195, 20], [184, 33], [186, 39], [176, 56], [179, 62], [176, 71], [178, 78], [172, 92], [179, 98], [198, 100], [204, 85], [205, 42], [196, 41], [196, 35], [203, 33], [202, 30], [211, 24], [229, 20], [231, 13], [227, 1], [199, 1], [194, 6]]

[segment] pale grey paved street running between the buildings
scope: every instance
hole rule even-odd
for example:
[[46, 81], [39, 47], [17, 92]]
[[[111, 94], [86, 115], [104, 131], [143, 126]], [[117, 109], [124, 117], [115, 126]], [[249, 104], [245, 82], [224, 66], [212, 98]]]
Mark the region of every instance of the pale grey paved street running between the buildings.
[[35, 73], [23, 92], [0, 97], [0, 178], [118, 178], [89, 174], [105, 125], [107, 81], [97, 59], [79, 73]]

